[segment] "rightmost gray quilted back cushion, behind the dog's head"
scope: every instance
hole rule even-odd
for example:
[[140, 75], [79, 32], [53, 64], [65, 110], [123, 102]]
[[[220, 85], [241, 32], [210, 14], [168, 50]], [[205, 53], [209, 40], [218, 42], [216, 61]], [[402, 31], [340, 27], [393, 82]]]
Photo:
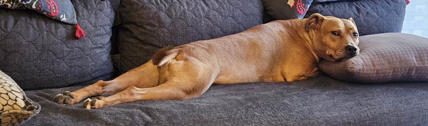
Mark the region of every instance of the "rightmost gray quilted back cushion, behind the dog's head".
[[357, 24], [360, 36], [401, 32], [406, 9], [404, 0], [358, 0], [312, 3], [305, 18], [319, 13], [348, 19]]

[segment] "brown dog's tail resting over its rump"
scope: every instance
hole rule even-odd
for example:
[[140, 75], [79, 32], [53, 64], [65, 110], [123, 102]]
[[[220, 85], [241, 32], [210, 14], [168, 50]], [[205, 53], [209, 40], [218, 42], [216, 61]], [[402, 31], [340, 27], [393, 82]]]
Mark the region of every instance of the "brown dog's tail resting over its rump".
[[157, 66], [162, 66], [169, 60], [172, 60], [173, 58], [175, 58], [178, 54], [178, 51], [173, 51], [173, 52], [169, 51], [172, 48], [174, 47], [166, 46], [162, 49], [158, 49], [158, 51], [156, 51], [156, 53], [152, 57], [152, 63]]

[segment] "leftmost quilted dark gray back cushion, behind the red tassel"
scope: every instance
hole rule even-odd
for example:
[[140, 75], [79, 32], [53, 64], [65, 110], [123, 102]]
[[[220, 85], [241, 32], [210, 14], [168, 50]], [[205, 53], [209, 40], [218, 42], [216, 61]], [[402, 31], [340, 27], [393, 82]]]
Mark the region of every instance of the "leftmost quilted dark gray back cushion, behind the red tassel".
[[33, 11], [0, 9], [0, 70], [24, 90], [59, 88], [109, 79], [110, 2], [71, 0], [86, 31], [80, 40], [74, 26]]

